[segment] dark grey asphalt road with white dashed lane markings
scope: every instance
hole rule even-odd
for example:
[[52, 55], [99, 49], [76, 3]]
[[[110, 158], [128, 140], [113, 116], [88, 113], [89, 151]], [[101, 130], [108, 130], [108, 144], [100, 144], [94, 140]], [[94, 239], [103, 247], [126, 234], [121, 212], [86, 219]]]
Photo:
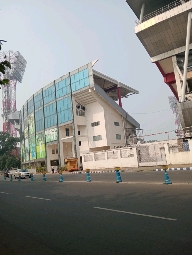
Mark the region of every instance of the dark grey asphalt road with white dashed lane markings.
[[190, 255], [192, 171], [170, 172], [182, 185], [160, 185], [162, 175], [122, 173], [132, 185], [113, 174], [92, 174], [91, 183], [85, 175], [65, 174], [63, 183], [56, 174], [47, 182], [1, 176], [0, 254]]

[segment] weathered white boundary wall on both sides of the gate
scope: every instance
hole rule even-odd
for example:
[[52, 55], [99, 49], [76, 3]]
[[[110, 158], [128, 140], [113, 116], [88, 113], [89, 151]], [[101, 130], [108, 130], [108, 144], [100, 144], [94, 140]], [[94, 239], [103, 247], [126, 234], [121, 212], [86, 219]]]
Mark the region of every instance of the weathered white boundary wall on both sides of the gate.
[[[152, 143], [145, 145], [151, 146]], [[155, 144], [158, 144], [156, 142]], [[177, 140], [161, 141], [165, 151], [165, 160], [163, 162], [150, 162], [150, 166], [158, 166], [159, 163], [167, 165], [191, 164], [192, 165], [192, 140], [188, 140], [188, 150], [181, 150]], [[139, 164], [136, 148], [120, 148], [107, 151], [90, 152], [82, 154], [83, 169], [109, 169], [114, 167], [137, 168]], [[140, 165], [141, 166], [141, 165]], [[149, 166], [149, 162], [142, 162], [142, 166]]]

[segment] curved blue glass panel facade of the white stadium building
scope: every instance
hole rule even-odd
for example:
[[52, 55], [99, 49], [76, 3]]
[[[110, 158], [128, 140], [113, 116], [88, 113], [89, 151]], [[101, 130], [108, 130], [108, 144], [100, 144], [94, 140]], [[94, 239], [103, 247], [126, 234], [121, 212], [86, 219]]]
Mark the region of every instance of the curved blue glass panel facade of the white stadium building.
[[27, 100], [20, 111], [22, 163], [46, 158], [46, 144], [58, 141], [59, 126], [73, 122], [73, 93], [88, 89], [90, 76], [92, 67], [88, 64], [62, 76]]

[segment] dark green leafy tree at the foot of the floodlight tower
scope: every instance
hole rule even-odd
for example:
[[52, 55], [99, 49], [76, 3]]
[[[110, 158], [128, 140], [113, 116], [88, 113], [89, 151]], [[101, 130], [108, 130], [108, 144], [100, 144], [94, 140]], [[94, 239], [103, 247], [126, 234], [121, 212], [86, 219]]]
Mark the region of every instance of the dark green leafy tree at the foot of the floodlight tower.
[[13, 137], [6, 132], [0, 132], [0, 169], [21, 166], [20, 157], [12, 154], [19, 141], [18, 137]]

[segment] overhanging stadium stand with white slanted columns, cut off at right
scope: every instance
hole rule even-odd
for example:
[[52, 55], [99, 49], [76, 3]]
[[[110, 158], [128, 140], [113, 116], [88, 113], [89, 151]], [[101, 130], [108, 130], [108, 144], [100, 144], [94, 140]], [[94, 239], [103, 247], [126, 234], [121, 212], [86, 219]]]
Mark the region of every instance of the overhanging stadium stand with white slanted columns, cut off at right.
[[192, 0], [126, 0], [135, 33], [178, 100], [185, 137], [192, 137]]

